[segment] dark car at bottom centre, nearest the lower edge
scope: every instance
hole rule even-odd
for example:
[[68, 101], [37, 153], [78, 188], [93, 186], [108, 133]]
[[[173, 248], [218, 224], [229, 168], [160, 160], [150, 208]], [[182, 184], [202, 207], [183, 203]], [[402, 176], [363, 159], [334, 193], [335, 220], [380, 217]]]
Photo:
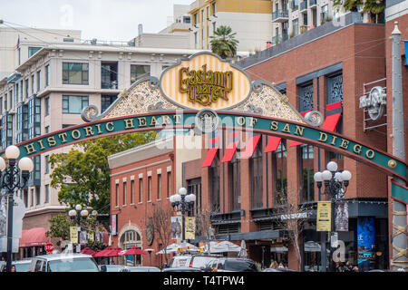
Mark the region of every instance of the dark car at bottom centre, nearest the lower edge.
[[258, 272], [251, 259], [219, 257], [212, 259], [203, 269], [206, 272]]

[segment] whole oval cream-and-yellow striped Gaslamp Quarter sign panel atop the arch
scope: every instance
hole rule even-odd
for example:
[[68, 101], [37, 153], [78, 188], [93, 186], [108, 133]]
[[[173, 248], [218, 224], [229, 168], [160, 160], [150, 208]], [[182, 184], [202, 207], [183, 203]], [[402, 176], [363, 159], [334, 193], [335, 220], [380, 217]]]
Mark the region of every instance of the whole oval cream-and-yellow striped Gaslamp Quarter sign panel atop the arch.
[[164, 70], [160, 90], [178, 107], [220, 111], [248, 100], [252, 85], [238, 66], [214, 53], [202, 52], [181, 58]]

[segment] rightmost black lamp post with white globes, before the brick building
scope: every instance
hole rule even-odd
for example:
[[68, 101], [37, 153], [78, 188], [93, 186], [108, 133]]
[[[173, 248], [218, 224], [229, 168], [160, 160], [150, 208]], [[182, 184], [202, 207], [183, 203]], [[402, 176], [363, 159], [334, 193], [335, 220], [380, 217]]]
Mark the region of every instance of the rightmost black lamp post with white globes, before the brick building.
[[[316, 172], [314, 179], [316, 181], [317, 188], [320, 190], [323, 183], [325, 183], [324, 194], [330, 198], [332, 217], [331, 217], [331, 234], [330, 234], [330, 270], [335, 272], [335, 264], [333, 263], [333, 247], [332, 245], [332, 233], [335, 232], [335, 200], [345, 197], [345, 191], [347, 190], [352, 174], [348, 170], [337, 171], [338, 166], [335, 161], [327, 163], [327, 169], [323, 172]], [[325, 253], [322, 253], [322, 259], [325, 257]], [[325, 271], [325, 269], [323, 269]]]

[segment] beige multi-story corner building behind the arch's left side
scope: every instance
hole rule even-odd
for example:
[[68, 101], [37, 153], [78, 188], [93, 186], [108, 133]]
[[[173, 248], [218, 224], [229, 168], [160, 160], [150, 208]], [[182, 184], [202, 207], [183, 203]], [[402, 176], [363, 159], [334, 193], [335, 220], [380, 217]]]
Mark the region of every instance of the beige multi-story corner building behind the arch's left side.
[[[93, 104], [102, 112], [132, 82], [158, 77], [180, 57], [197, 52], [97, 43], [40, 44], [44, 47], [0, 80], [2, 149], [80, 124], [84, 107]], [[48, 160], [51, 154], [68, 150], [52, 150], [33, 158], [34, 172], [27, 189], [20, 193], [26, 206], [23, 229], [47, 229], [48, 219], [64, 212], [58, 190], [50, 186]], [[24, 252], [24, 256], [30, 255], [34, 253]]]

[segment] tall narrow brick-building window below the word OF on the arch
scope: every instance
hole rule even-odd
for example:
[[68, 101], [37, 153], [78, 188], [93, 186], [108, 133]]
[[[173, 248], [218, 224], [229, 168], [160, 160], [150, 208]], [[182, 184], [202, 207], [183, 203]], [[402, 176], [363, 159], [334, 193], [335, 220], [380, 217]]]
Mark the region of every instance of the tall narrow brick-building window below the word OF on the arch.
[[251, 208], [263, 207], [262, 141], [259, 140], [254, 155], [249, 160], [251, 174]]

